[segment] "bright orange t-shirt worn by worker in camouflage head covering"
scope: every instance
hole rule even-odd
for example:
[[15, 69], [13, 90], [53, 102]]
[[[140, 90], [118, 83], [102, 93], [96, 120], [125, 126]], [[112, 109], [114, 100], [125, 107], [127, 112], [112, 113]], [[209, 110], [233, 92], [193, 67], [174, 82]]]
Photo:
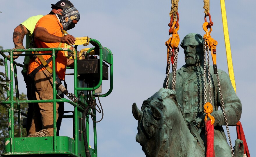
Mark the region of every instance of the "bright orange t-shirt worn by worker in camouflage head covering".
[[[42, 17], [37, 24], [35, 25], [35, 29], [37, 27], [43, 27], [45, 28], [49, 34], [55, 35], [62, 37], [62, 32], [61, 28], [63, 26], [57, 19], [55, 15], [45, 15]], [[59, 43], [45, 43], [42, 42], [41, 40], [35, 38], [35, 48], [57, 48]], [[62, 43], [61, 48], [64, 48], [64, 44]], [[39, 53], [52, 53], [51, 51], [40, 51]], [[45, 61], [51, 57], [51, 55], [42, 55]], [[41, 61], [36, 58], [39, 63]], [[52, 61], [48, 64], [49, 67], [52, 68]], [[67, 65], [67, 58], [64, 55], [64, 51], [58, 51], [56, 54], [56, 59], [55, 59], [55, 70], [56, 74], [58, 74], [58, 77], [62, 80], [65, 79], [65, 71], [66, 71], [66, 65]], [[39, 64], [35, 60], [31, 60], [29, 62], [29, 69], [28, 69], [28, 74], [30, 74], [35, 68], [37, 68]], [[45, 68], [42, 68], [40, 71], [46, 70]]]

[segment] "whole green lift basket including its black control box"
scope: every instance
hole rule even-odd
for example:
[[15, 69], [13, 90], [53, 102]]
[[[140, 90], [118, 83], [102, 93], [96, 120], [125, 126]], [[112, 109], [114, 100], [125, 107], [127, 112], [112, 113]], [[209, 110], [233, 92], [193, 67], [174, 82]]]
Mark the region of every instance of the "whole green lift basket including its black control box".
[[[113, 90], [113, 54], [112, 52], [101, 45], [101, 43], [95, 39], [88, 38], [89, 43], [91, 43], [93, 48], [88, 48], [84, 54], [86, 54], [85, 59], [79, 59], [74, 57], [74, 96], [79, 97], [78, 101], [72, 101], [66, 98], [56, 99], [53, 96], [52, 100], [19, 100], [19, 90], [18, 90], [18, 79], [17, 79], [17, 66], [23, 67], [22, 64], [13, 61], [13, 56], [25, 56], [25, 55], [36, 55], [36, 54], [13, 54], [12, 49], [1, 50], [1, 55], [4, 57], [4, 66], [6, 80], [10, 81], [6, 83], [9, 89], [6, 91], [7, 99], [1, 101], [1, 105], [8, 109], [8, 123], [9, 123], [9, 137], [4, 139], [4, 151], [1, 156], [74, 156], [74, 157], [86, 157], [85, 145], [82, 134], [82, 114], [85, 108], [89, 105], [89, 99], [95, 99], [96, 97], [106, 97]], [[78, 45], [74, 46], [76, 50]], [[56, 81], [55, 72], [55, 58], [57, 51], [67, 51], [71, 54], [73, 51], [65, 48], [35, 48], [35, 49], [16, 49], [15, 52], [24, 51], [51, 51], [52, 53], [45, 53], [40, 55], [52, 55], [53, 61], [53, 82]], [[10, 58], [4, 53], [8, 52]], [[76, 51], [74, 51], [76, 52]], [[98, 59], [99, 57], [99, 59]], [[9, 61], [7, 61], [9, 60]], [[8, 73], [8, 62], [10, 67], [10, 73]], [[110, 67], [108, 66], [110, 65]], [[110, 73], [108, 72], [110, 69]], [[102, 80], [108, 79], [110, 75], [110, 87], [108, 92], [105, 94], [96, 94], [95, 90], [101, 88]], [[16, 90], [16, 100], [14, 100], [14, 83]], [[79, 95], [81, 91], [86, 92], [83, 96]], [[99, 92], [98, 92], [99, 93]], [[53, 95], [56, 95], [56, 84], [53, 83]], [[90, 98], [89, 98], [90, 96]], [[21, 116], [24, 114], [20, 111], [20, 105], [23, 103], [53, 103], [53, 119], [54, 119], [54, 136], [47, 137], [22, 137], [22, 124]], [[64, 115], [63, 118], [72, 118], [73, 120], [73, 137], [67, 136], [56, 136], [56, 102], [69, 103], [74, 106], [73, 114]], [[14, 109], [14, 104], [17, 104], [17, 109]], [[14, 114], [18, 115], [18, 127], [20, 137], [14, 137]], [[88, 141], [88, 149], [92, 157], [97, 157], [97, 132], [96, 132], [96, 122], [93, 122], [93, 143], [94, 149], [90, 148], [89, 141], [89, 115], [92, 116], [94, 121], [96, 121], [96, 110], [90, 109], [86, 114], [86, 135]], [[87, 156], [88, 157], [88, 156]]]

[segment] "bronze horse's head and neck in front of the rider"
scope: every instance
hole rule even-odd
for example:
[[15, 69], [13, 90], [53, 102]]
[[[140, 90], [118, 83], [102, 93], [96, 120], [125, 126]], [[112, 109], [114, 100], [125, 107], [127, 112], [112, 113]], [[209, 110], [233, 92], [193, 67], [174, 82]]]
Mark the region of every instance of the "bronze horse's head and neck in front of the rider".
[[204, 146], [190, 133], [173, 90], [161, 88], [145, 100], [141, 111], [136, 103], [132, 113], [138, 120], [136, 141], [146, 157], [204, 157]]

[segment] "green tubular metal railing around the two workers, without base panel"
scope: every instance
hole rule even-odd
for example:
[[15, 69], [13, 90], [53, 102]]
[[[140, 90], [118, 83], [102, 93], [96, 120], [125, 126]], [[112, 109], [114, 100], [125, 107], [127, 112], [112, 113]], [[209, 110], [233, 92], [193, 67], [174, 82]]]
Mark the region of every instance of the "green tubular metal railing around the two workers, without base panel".
[[[99, 83], [95, 85], [94, 87], [78, 87], [78, 74], [77, 74], [77, 59], [74, 59], [74, 94], [75, 96], [78, 96], [78, 91], [93, 91], [93, 96], [95, 97], [106, 97], [108, 96], [112, 90], [113, 90], [113, 54], [112, 52], [105, 47], [102, 47], [101, 43], [95, 39], [90, 39], [90, 43], [92, 43], [94, 46], [96, 46], [99, 49]], [[77, 45], [75, 46], [77, 48]], [[94, 48], [91, 48], [90, 50], [93, 50]], [[13, 54], [13, 51], [15, 52], [31, 52], [31, 51], [51, 51], [52, 53], [40, 53], [40, 54]], [[68, 100], [66, 98], [61, 98], [57, 99], [56, 96], [53, 96], [52, 100], [19, 100], [19, 88], [18, 88], [18, 83], [17, 83], [17, 66], [23, 67], [22, 64], [19, 64], [15, 61], [13, 61], [13, 56], [30, 56], [30, 55], [52, 55], [52, 65], [53, 65], [53, 72], [52, 72], [52, 78], [53, 78], [53, 95], [56, 95], [56, 84], [54, 83], [56, 81], [56, 72], [55, 72], [55, 59], [56, 59], [56, 52], [57, 51], [68, 51], [68, 52], [73, 52], [71, 50], [67, 50], [64, 48], [34, 48], [34, 49], [8, 49], [8, 50], [1, 50], [0, 54], [4, 57], [5, 61], [5, 74], [6, 74], [6, 80], [9, 80], [9, 73], [8, 73], [8, 61], [10, 61], [10, 82], [7, 82], [6, 85], [9, 87], [9, 90], [6, 91], [7, 94], [7, 99], [4, 101], [1, 101], [1, 105], [5, 106], [8, 108], [8, 122], [9, 122], [9, 138], [10, 138], [10, 152], [5, 152], [2, 155], [3, 156], [11, 156], [11, 155], [19, 155], [20, 152], [15, 152], [15, 147], [14, 147], [14, 113], [17, 112], [18, 114], [18, 124], [19, 124], [19, 135], [22, 138], [22, 130], [21, 130], [21, 115], [24, 113], [20, 112], [20, 104], [22, 103], [48, 103], [51, 102], [53, 103], [53, 120], [54, 120], [54, 136], [53, 138], [53, 148], [52, 151], [43, 151], [40, 152], [40, 150], [36, 152], [22, 152], [22, 154], [63, 154], [63, 151], [57, 150], [57, 128], [56, 128], [56, 103], [57, 102], [65, 102], [69, 103], [74, 106], [74, 152], [70, 152], [71, 156], [80, 156], [81, 152], [78, 152], [78, 145], [79, 145], [79, 122], [78, 122], [78, 117], [81, 115], [81, 112], [84, 111], [83, 107], [78, 105], [78, 103], [74, 103], [71, 100]], [[10, 55], [10, 58], [6, 56], [4, 53], [8, 52]], [[108, 92], [102, 95], [95, 95], [94, 90], [99, 88], [99, 86], [102, 84], [102, 76], [103, 76], [103, 61], [109, 63], [110, 65], [110, 88]], [[14, 81], [13, 81], [14, 77]], [[14, 92], [12, 89], [14, 89], [14, 84], [15, 82], [15, 91], [16, 91], [16, 100], [14, 100]], [[87, 100], [85, 100], [87, 102]], [[17, 104], [17, 109], [14, 109], [14, 104]], [[86, 105], [88, 105], [86, 103]], [[80, 114], [78, 115], [78, 112]], [[93, 109], [92, 112], [89, 112], [91, 116], [93, 116], [94, 121], [96, 121], [96, 110]], [[65, 116], [65, 118], [69, 118], [72, 116]], [[96, 129], [96, 123], [93, 122], [93, 131], [94, 131], [94, 150], [93, 154], [91, 154], [94, 157], [97, 157], [97, 129]], [[89, 118], [88, 115], [86, 117], [86, 132], [87, 132], [87, 138], [88, 138], [88, 143], [89, 141]], [[31, 138], [32, 139], [32, 138]], [[79, 155], [80, 154], [80, 155]]]

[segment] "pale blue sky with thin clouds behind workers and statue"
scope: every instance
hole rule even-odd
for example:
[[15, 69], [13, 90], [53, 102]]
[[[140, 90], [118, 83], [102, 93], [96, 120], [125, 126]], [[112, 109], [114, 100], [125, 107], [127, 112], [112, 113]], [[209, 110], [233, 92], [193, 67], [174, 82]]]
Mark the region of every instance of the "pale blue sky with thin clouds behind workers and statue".
[[[4, 49], [14, 47], [13, 29], [27, 18], [50, 12], [50, 3], [56, 1], [6, 0], [0, 6], [1, 38]], [[101, 99], [104, 118], [97, 124], [98, 156], [131, 157], [145, 156], [141, 146], [136, 142], [137, 121], [131, 113], [131, 105], [142, 102], [157, 92], [166, 77], [166, 46], [168, 40], [168, 23], [170, 0], [72, 0], [79, 10], [81, 19], [77, 26], [69, 31], [75, 37], [89, 36], [97, 39], [103, 46], [113, 52], [114, 89], [110, 96]], [[255, 97], [255, 25], [253, 0], [227, 1], [227, 21], [237, 85], [237, 95], [241, 99], [243, 111], [241, 122], [246, 135], [251, 156], [255, 156], [254, 130], [256, 116]], [[191, 32], [203, 35], [204, 22], [203, 1], [179, 1], [179, 31], [181, 39]], [[211, 36], [218, 41], [216, 48], [217, 65], [227, 72], [225, 42], [219, 1], [211, 1], [210, 13], [214, 25]], [[25, 42], [25, 41], [24, 41]], [[92, 46], [92, 45], [90, 45]], [[79, 46], [78, 50], [83, 46]], [[22, 63], [22, 57], [17, 61]], [[178, 55], [178, 68], [184, 65], [184, 53], [181, 48]], [[2, 71], [3, 69], [1, 69]], [[20, 76], [20, 91], [26, 92]], [[67, 77], [67, 82], [72, 78]], [[103, 91], [107, 91], [109, 82], [104, 81]], [[72, 90], [72, 84], [69, 85]], [[66, 110], [72, 110], [65, 105]], [[98, 115], [98, 118], [101, 115]], [[71, 136], [72, 121], [63, 119], [62, 136]], [[225, 129], [225, 128], [224, 128]], [[230, 127], [232, 143], [236, 139], [236, 128]], [[91, 136], [90, 136], [91, 137]], [[92, 137], [91, 137], [92, 139]], [[93, 145], [93, 144], [91, 144]]]

